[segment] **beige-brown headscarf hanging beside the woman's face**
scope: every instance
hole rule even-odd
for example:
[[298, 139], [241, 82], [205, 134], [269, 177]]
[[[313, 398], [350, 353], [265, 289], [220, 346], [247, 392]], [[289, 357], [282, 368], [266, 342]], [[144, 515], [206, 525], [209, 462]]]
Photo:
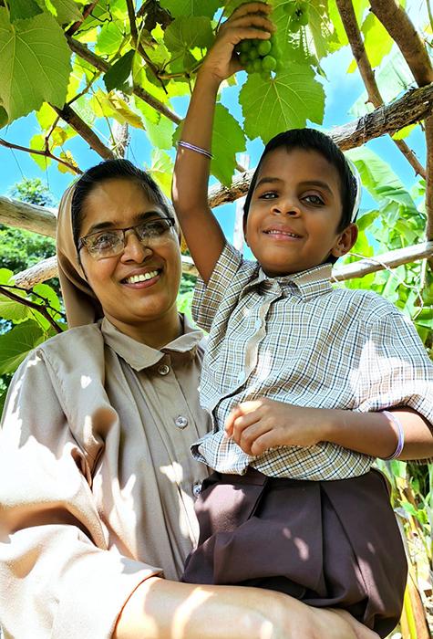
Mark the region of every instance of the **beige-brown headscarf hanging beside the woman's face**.
[[58, 278], [70, 329], [92, 324], [103, 317], [102, 307], [88, 286], [83, 269], [78, 263], [71, 219], [74, 186], [75, 184], [69, 186], [58, 206], [56, 233]]

